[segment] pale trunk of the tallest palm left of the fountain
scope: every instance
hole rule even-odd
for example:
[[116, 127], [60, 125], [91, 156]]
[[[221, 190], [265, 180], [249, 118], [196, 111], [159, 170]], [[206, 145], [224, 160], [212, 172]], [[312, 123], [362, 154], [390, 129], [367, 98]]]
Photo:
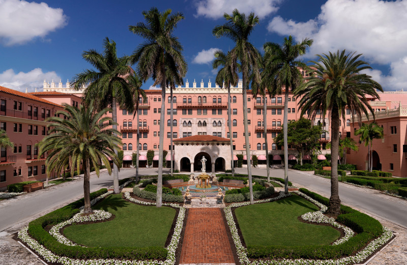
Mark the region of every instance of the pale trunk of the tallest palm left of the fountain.
[[[164, 66], [162, 67], [163, 76], [165, 76]], [[164, 147], [164, 119], [165, 119], [165, 77], [161, 82], [161, 116], [160, 116], [160, 143], [158, 147], [158, 180], [157, 180], [157, 207], [162, 205], [162, 162], [163, 162], [163, 147]]]

